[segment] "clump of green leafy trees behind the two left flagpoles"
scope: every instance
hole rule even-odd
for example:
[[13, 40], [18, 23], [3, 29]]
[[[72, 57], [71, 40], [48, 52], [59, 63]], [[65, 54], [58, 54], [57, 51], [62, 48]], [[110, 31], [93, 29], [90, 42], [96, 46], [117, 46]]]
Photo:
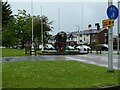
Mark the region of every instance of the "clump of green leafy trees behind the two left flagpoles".
[[[44, 31], [44, 42], [47, 42], [52, 30], [52, 22], [49, 22], [48, 18], [43, 16], [43, 31]], [[34, 41], [41, 42], [41, 17], [34, 16]], [[9, 38], [8, 38], [9, 37]], [[10, 19], [10, 22], [6, 24], [3, 30], [3, 46], [10, 47], [16, 46], [18, 42], [21, 43], [21, 49], [27, 41], [31, 42], [32, 37], [32, 16], [26, 12], [26, 10], [18, 10], [18, 14], [14, 15]]]

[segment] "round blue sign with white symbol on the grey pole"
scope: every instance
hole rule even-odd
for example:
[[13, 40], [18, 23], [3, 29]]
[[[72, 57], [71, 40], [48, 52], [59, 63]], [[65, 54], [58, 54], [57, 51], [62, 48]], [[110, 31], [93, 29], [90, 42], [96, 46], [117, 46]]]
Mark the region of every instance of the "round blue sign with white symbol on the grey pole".
[[119, 15], [119, 11], [116, 6], [110, 5], [107, 9], [107, 15], [110, 19], [116, 19]]

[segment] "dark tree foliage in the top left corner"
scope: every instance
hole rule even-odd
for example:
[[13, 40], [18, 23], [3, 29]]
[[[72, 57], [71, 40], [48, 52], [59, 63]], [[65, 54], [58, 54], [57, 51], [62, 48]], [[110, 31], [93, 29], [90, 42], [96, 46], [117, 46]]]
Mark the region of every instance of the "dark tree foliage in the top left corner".
[[8, 2], [2, 2], [2, 25], [6, 25], [12, 16], [10, 4]]

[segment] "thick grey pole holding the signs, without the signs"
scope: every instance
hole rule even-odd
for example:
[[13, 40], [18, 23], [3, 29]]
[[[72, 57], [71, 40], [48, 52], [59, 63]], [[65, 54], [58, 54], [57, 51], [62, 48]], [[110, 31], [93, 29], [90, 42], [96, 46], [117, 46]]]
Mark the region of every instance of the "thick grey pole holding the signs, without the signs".
[[[113, 4], [113, 0], [108, 0], [108, 7]], [[113, 16], [113, 15], [112, 15]], [[113, 27], [108, 27], [108, 69], [113, 71]]]

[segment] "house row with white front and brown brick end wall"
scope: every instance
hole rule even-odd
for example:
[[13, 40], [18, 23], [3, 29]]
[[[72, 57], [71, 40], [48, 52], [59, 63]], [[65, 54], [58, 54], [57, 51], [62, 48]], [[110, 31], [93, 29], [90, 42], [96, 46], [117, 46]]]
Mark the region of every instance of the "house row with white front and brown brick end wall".
[[76, 44], [108, 43], [108, 30], [102, 28], [71, 32], [67, 36], [67, 42], [75, 42]]

